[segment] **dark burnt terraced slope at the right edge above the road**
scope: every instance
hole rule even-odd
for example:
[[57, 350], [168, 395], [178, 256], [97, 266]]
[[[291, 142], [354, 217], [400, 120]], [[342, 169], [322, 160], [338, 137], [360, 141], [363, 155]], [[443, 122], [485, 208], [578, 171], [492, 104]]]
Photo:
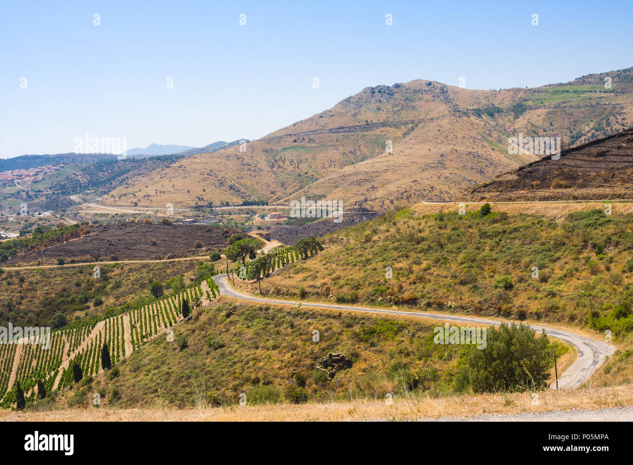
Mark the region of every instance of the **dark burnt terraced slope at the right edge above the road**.
[[458, 196], [460, 201], [633, 198], [633, 129], [522, 166]]

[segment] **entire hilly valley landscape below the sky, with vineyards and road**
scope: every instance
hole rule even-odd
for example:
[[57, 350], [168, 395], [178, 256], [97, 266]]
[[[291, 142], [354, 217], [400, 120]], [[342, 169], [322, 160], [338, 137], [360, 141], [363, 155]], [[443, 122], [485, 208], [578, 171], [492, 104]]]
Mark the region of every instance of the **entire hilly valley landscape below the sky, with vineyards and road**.
[[[0, 319], [51, 327], [51, 349], [0, 345], [0, 406], [23, 394], [19, 418], [68, 419], [633, 406], [631, 69], [608, 73], [613, 89], [606, 73], [379, 85], [261, 139], [23, 159], [31, 171], [8, 170], [0, 192], [0, 226], [18, 235], [0, 242]], [[511, 151], [519, 136], [562, 150]], [[51, 160], [65, 163], [11, 185]], [[302, 197], [343, 213], [293, 213]], [[444, 325], [486, 329], [496, 355], [438, 343]], [[522, 368], [499, 355], [508, 344], [527, 348]]]

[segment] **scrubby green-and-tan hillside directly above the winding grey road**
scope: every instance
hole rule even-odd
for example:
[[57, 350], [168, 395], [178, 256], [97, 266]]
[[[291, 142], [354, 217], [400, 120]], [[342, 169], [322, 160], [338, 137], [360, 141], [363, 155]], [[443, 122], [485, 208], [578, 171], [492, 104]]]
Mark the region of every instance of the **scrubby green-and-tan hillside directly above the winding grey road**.
[[[303, 287], [306, 299], [592, 330], [610, 325], [614, 334], [624, 325], [619, 335], [629, 333], [633, 316], [625, 324], [620, 317], [627, 312], [613, 318], [611, 311], [628, 306], [633, 295], [630, 204], [613, 204], [611, 216], [589, 205], [565, 213], [554, 204], [551, 214], [505, 207], [494, 205], [486, 216], [471, 205], [463, 216], [442, 206], [430, 213], [424, 205], [389, 212], [325, 235], [325, 251], [275, 271], [261, 288], [294, 299]], [[536, 278], [533, 267], [539, 269]], [[251, 285], [251, 292], [256, 287]]]

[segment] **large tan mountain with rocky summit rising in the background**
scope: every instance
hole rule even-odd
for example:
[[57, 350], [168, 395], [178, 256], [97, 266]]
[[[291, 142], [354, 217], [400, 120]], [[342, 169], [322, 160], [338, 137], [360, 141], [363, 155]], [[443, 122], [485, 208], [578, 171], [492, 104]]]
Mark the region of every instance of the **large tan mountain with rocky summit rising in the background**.
[[531, 153], [508, 154], [508, 137], [558, 136], [567, 146], [582, 144], [630, 127], [632, 107], [632, 68], [536, 89], [467, 90], [427, 80], [367, 87], [262, 139], [130, 179], [106, 201], [287, 204], [306, 195], [384, 209], [448, 200], [537, 160]]

